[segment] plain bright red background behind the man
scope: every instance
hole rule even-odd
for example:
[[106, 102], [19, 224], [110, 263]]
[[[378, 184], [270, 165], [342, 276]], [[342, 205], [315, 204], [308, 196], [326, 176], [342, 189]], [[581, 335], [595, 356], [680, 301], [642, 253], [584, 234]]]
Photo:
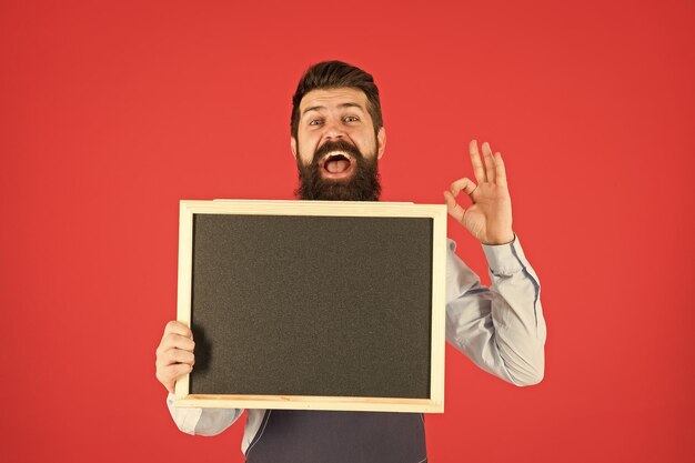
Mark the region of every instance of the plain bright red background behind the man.
[[243, 419], [180, 433], [154, 378], [178, 201], [292, 199], [324, 59], [380, 85], [384, 200], [443, 202], [470, 139], [502, 151], [542, 280], [544, 382], [447, 348], [431, 461], [692, 461], [694, 3], [0, 3], [3, 461], [242, 461]]

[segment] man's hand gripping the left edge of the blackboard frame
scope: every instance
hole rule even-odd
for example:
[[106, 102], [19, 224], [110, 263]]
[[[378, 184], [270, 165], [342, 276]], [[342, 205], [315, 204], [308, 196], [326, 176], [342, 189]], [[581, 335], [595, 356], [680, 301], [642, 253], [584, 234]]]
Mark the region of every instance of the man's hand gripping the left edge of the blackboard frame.
[[169, 392], [174, 391], [175, 381], [193, 370], [193, 333], [183, 323], [174, 320], [167, 323], [162, 341], [157, 348], [157, 379]]

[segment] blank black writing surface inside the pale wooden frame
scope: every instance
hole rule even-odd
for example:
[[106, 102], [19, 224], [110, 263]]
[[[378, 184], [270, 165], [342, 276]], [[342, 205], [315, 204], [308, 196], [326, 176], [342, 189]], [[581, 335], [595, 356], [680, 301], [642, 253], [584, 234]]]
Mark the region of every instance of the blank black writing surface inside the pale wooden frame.
[[432, 219], [195, 214], [191, 393], [429, 397], [431, 282]]

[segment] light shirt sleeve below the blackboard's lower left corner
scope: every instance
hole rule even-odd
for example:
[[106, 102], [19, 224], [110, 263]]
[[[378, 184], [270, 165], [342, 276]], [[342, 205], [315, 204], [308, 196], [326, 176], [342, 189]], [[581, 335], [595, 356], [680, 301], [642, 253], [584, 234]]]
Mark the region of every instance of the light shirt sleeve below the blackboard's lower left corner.
[[167, 396], [169, 413], [179, 430], [191, 435], [216, 435], [231, 426], [243, 409], [195, 409], [174, 406], [174, 395]]

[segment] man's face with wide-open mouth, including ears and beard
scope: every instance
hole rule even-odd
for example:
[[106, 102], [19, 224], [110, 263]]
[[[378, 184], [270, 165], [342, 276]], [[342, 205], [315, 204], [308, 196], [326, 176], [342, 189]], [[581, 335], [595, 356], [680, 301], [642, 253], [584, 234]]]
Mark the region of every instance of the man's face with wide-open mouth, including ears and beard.
[[374, 133], [366, 105], [366, 95], [350, 88], [312, 90], [304, 95], [298, 139], [291, 140], [301, 199], [379, 199], [376, 163], [386, 133], [383, 128]]

